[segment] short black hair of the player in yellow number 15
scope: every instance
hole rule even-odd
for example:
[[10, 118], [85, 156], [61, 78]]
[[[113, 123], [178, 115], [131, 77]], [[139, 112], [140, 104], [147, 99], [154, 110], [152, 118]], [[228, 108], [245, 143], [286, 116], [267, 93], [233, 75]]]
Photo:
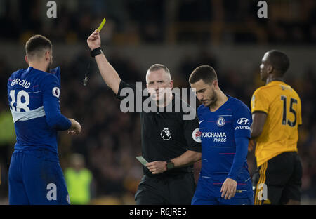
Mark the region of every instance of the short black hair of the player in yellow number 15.
[[289, 69], [289, 58], [284, 52], [275, 49], [268, 51], [268, 53], [268, 62], [283, 76], [287, 72], [287, 69]]

